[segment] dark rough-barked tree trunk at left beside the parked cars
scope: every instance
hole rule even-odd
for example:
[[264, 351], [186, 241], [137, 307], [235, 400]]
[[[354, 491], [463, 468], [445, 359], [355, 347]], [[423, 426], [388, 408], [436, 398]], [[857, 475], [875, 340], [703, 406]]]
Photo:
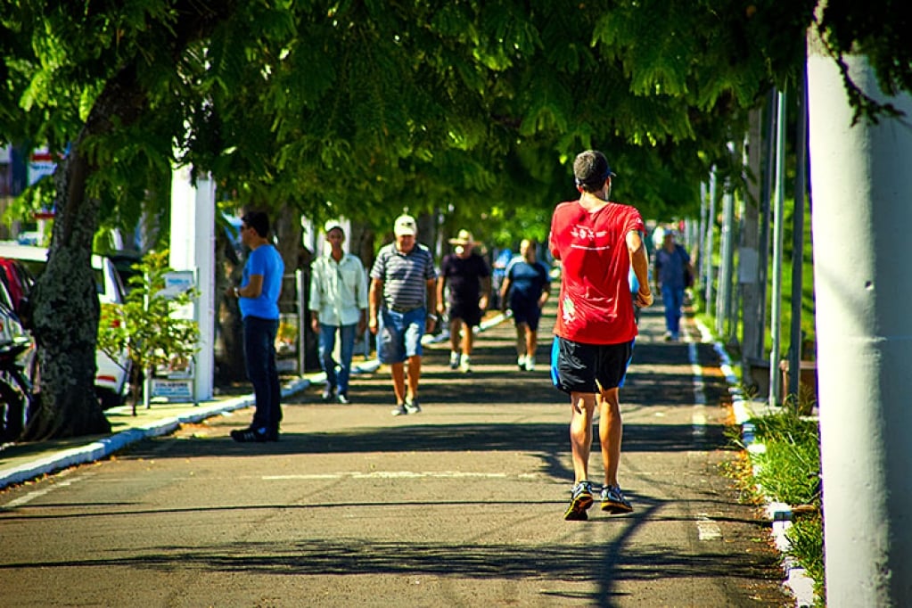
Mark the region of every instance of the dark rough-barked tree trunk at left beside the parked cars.
[[100, 305], [91, 253], [99, 201], [86, 186], [98, 167], [82, 146], [88, 138], [130, 125], [144, 106], [134, 73], [121, 72], [102, 91], [67, 158], [57, 165], [54, 232], [34, 300], [42, 399], [23, 435], [28, 440], [110, 430], [95, 394]]

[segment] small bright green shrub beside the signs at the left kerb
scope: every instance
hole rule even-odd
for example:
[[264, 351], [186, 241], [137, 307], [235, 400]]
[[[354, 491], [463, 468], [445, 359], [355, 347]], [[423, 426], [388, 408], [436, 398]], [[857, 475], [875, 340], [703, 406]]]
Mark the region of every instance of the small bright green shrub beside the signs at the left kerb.
[[187, 362], [198, 350], [199, 328], [195, 321], [174, 315], [192, 304], [195, 290], [162, 294], [168, 251], [149, 252], [134, 265], [130, 292], [123, 304], [102, 307], [98, 324], [98, 349], [119, 360], [126, 352], [132, 366], [134, 398], [139, 395], [140, 372], [156, 366]]

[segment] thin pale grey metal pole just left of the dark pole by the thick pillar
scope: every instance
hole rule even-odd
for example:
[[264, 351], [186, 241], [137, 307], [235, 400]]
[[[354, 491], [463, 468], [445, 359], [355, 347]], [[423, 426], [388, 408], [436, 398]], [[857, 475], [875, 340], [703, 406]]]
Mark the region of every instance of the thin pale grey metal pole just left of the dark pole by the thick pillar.
[[782, 388], [782, 375], [779, 370], [779, 350], [781, 335], [782, 308], [782, 210], [785, 207], [784, 172], [785, 172], [785, 92], [779, 91], [776, 96], [776, 196], [775, 211], [772, 216], [772, 310], [770, 332], [772, 348], [770, 350], [770, 406], [779, 405]]

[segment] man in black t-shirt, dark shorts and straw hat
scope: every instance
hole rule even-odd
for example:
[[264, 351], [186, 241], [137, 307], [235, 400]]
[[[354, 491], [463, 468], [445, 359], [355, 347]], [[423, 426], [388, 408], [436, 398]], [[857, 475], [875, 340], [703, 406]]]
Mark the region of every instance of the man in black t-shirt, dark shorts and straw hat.
[[441, 315], [448, 312], [450, 318], [450, 368], [458, 367], [463, 373], [469, 373], [472, 371], [472, 328], [481, 325], [482, 315], [488, 308], [491, 271], [484, 258], [474, 252], [476, 243], [472, 232], [461, 230], [450, 243], [455, 249], [440, 263], [437, 312]]

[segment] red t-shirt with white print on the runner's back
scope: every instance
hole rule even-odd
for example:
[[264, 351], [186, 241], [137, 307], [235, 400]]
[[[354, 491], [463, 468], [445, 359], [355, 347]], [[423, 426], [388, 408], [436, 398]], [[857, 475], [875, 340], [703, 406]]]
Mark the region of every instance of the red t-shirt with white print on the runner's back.
[[643, 230], [642, 216], [629, 205], [609, 202], [592, 212], [579, 201], [557, 205], [548, 237], [562, 262], [554, 334], [593, 345], [636, 337], [627, 233]]

